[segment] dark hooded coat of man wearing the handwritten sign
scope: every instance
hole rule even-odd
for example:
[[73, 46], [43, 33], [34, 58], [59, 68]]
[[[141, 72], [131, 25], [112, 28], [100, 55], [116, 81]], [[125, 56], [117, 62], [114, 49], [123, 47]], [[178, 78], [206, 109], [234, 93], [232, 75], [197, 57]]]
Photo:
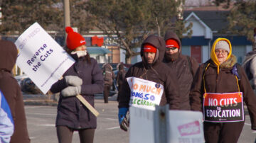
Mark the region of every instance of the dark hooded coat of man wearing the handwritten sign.
[[[143, 46], [149, 43], [156, 47], [156, 57], [153, 64], [146, 64], [144, 59]], [[164, 93], [161, 97], [160, 105], [169, 104], [170, 109], [179, 108], [179, 92], [177, 79], [172, 71], [166, 64], [161, 62], [164, 59], [165, 42], [164, 39], [155, 35], [150, 35], [141, 47], [142, 62], [138, 62], [129, 68], [125, 77], [138, 77], [149, 81], [164, 85]], [[119, 95], [119, 108], [128, 108], [130, 99], [130, 88], [128, 82], [125, 81]]]

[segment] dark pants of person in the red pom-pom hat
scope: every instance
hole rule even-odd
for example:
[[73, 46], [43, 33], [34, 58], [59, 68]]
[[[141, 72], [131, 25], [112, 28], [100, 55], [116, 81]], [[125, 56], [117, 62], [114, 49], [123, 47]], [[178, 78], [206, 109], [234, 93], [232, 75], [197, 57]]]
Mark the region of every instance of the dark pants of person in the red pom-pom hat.
[[[66, 126], [57, 126], [57, 136], [59, 143], [71, 143], [73, 137], [73, 129]], [[81, 143], [93, 143], [95, 129], [78, 130]]]

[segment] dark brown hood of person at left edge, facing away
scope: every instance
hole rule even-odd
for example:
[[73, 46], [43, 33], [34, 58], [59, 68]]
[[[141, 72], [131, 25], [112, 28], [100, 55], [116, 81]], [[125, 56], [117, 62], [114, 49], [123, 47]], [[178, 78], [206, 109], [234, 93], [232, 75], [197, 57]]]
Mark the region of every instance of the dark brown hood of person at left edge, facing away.
[[0, 40], [0, 70], [9, 71], [14, 67], [18, 55], [18, 50], [14, 42]]

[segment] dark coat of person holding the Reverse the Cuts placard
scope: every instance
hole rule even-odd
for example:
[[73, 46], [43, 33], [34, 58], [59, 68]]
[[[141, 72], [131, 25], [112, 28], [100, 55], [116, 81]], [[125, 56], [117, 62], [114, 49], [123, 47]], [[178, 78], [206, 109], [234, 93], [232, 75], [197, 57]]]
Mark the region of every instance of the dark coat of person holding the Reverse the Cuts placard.
[[[91, 64], [87, 61], [85, 62], [84, 59], [85, 57], [76, 59], [75, 64], [63, 74], [63, 77], [68, 75], [79, 76], [82, 79], [81, 95], [94, 107], [94, 94], [102, 93], [103, 91], [102, 70], [97, 65], [95, 59], [90, 58]], [[63, 78], [53, 84], [50, 91], [58, 93], [67, 86]], [[68, 126], [75, 130], [96, 128], [96, 121], [95, 115], [85, 105], [82, 105], [78, 98], [75, 96], [64, 98], [60, 93], [56, 126]]]

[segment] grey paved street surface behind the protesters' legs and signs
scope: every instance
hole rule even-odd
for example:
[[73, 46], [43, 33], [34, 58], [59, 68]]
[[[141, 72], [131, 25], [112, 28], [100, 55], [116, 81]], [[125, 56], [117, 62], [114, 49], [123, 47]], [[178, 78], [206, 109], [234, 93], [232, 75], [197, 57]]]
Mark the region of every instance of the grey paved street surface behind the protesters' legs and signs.
[[[129, 132], [119, 129], [117, 118], [117, 101], [103, 103], [102, 99], [95, 100], [95, 108], [100, 113], [97, 118], [95, 143], [128, 143]], [[26, 105], [28, 134], [31, 143], [57, 143], [55, 131], [56, 106]], [[254, 143], [256, 132], [250, 130], [250, 117], [246, 115], [245, 126], [238, 143]], [[73, 143], [79, 143], [78, 132], [73, 135]]]

